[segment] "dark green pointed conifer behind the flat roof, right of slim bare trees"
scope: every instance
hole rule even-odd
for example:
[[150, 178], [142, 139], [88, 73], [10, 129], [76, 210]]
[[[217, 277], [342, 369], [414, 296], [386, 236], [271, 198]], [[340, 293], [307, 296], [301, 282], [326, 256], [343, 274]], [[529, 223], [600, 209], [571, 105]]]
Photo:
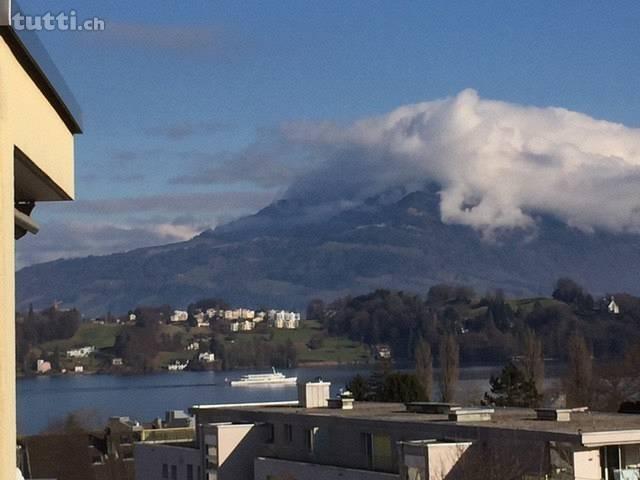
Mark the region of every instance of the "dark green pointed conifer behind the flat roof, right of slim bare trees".
[[498, 407], [535, 408], [540, 403], [540, 394], [532, 377], [508, 362], [500, 375], [491, 376], [491, 394], [485, 393], [484, 401]]

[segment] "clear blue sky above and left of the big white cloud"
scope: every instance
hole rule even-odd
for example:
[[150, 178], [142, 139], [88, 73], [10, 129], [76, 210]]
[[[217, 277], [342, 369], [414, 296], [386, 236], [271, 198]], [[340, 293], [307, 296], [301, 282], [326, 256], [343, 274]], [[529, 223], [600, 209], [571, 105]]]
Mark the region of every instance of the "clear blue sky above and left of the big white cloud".
[[282, 124], [347, 124], [473, 88], [640, 127], [637, 2], [21, 5], [76, 10], [106, 30], [40, 33], [85, 133], [77, 202], [36, 209], [43, 230], [20, 242], [20, 266], [185, 239], [256, 211], [295, 175], [267, 181], [234, 162]]

